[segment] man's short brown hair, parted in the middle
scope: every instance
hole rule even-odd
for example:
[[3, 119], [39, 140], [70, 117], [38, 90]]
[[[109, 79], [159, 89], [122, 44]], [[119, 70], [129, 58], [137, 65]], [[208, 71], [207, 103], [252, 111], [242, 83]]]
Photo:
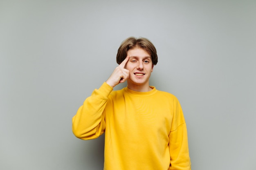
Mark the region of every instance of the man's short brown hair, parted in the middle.
[[151, 55], [153, 65], [157, 64], [157, 50], [155, 46], [146, 38], [129, 37], [124, 40], [117, 51], [117, 64], [121, 64], [127, 56], [130, 49], [141, 48]]

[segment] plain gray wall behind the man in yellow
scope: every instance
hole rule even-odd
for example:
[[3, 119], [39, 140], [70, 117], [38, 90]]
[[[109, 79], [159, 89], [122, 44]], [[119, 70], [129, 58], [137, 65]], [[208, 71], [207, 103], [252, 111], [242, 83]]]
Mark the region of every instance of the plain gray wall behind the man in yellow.
[[256, 169], [255, 18], [255, 0], [0, 0], [0, 169], [103, 169], [104, 136], [71, 120], [129, 36], [157, 48], [150, 85], [180, 100], [192, 169]]

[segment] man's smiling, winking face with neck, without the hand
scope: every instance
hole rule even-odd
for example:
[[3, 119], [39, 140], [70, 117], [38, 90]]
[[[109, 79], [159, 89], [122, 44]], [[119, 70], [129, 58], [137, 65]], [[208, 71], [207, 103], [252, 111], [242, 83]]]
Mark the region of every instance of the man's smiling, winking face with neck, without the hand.
[[130, 71], [127, 79], [129, 85], [149, 86], [149, 77], [153, 72], [153, 63], [150, 54], [141, 48], [130, 49], [130, 56], [125, 68]]

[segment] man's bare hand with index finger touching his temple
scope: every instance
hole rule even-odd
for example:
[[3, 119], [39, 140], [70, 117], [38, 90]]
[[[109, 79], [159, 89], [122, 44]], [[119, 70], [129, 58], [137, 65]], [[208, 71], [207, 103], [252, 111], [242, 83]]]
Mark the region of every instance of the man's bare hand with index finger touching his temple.
[[130, 56], [127, 55], [127, 57], [124, 59], [117, 68], [113, 71], [113, 73], [110, 75], [106, 83], [110, 85], [111, 87], [115, 87], [119, 83], [124, 83], [128, 77], [129, 77], [129, 70], [125, 69], [125, 65], [128, 62]]

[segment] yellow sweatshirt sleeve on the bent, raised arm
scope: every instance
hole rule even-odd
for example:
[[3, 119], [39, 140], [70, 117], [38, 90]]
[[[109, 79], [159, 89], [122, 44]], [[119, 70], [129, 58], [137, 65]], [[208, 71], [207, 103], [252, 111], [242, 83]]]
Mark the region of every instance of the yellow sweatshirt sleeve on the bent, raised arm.
[[105, 131], [105, 106], [113, 88], [104, 82], [85, 99], [72, 118], [72, 131], [80, 139], [95, 139]]

